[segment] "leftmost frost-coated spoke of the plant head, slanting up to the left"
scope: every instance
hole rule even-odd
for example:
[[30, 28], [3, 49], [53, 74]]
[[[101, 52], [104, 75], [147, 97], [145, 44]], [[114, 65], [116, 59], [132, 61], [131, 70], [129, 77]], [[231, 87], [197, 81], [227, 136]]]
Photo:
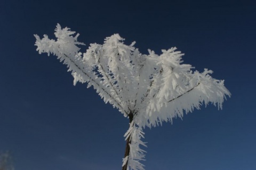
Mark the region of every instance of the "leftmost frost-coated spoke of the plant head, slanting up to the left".
[[113, 93], [114, 90], [102, 84], [100, 77], [93, 71], [92, 64], [83, 61], [82, 53], [79, 52], [80, 48], [76, 45], [84, 44], [77, 42], [78, 35], [72, 37], [71, 35], [75, 33], [74, 31], [69, 31], [67, 28], [61, 29], [59, 25], [55, 31], [57, 41], [49, 39], [47, 35], [44, 35], [43, 39], [35, 35], [37, 51], [39, 53], [48, 53], [48, 55], [50, 53], [56, 55], [63, 64], [67, 64], [68, 71], [71, 71], [74, 77], [74, 85], [76, 82], [88, 83], [87, 87], [93, 86], [106, 103], [109, 102], [127, 115], [121, 99], [117, 97], [117, 94]]

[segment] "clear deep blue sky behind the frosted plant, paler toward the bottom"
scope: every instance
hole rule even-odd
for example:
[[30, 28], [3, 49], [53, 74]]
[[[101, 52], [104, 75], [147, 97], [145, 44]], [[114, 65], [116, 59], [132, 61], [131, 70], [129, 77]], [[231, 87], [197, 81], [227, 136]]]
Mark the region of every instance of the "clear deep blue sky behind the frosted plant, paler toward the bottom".
[[[141, 53], [173, 46], [231, 92], [223, 110], [202, 107], [145, 129], [147, 170], [256, 169], [255, 1], [1, 1], [0, 150], [17, 170], [121, 169], [129, 120], [78, 83], [33, 34], [57, 23], [86, 45], [119, 33]], [[82, 47], [82, 52], [87, 46]]]

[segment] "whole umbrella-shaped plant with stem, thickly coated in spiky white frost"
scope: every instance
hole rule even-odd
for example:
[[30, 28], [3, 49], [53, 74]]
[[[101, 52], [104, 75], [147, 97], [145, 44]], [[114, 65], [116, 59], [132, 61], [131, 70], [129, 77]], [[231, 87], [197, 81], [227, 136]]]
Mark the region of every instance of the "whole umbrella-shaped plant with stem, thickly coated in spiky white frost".
[[39, 54], [54, 54], [67, 64], [77, 82], [87, 83], [101, 98], [117, 108], [130, 119], [130, 128], [125, 133], [126, 149], [123, 169], [144, 169], [145, 151], [140, 147], [143, 128], [172, 122], [172, 118], [199, 109], [209, 102], [222, 108], [229, 91], [224, 80], [210, 76], [211, 70], [193, 71], [189, 64], [182, 64], [183, 55], [177, 48], [162, 50], [161, 55], [148, 50], [141, 54], [138, 48], [124, 44], [124, 38], [114, 34], [103, 45], [90, 44], [85, 53], [77, 45], [85, 45], [73, 36], [74, 31], [57, 25], [54, 39], [47, 35], [36, 37]]

